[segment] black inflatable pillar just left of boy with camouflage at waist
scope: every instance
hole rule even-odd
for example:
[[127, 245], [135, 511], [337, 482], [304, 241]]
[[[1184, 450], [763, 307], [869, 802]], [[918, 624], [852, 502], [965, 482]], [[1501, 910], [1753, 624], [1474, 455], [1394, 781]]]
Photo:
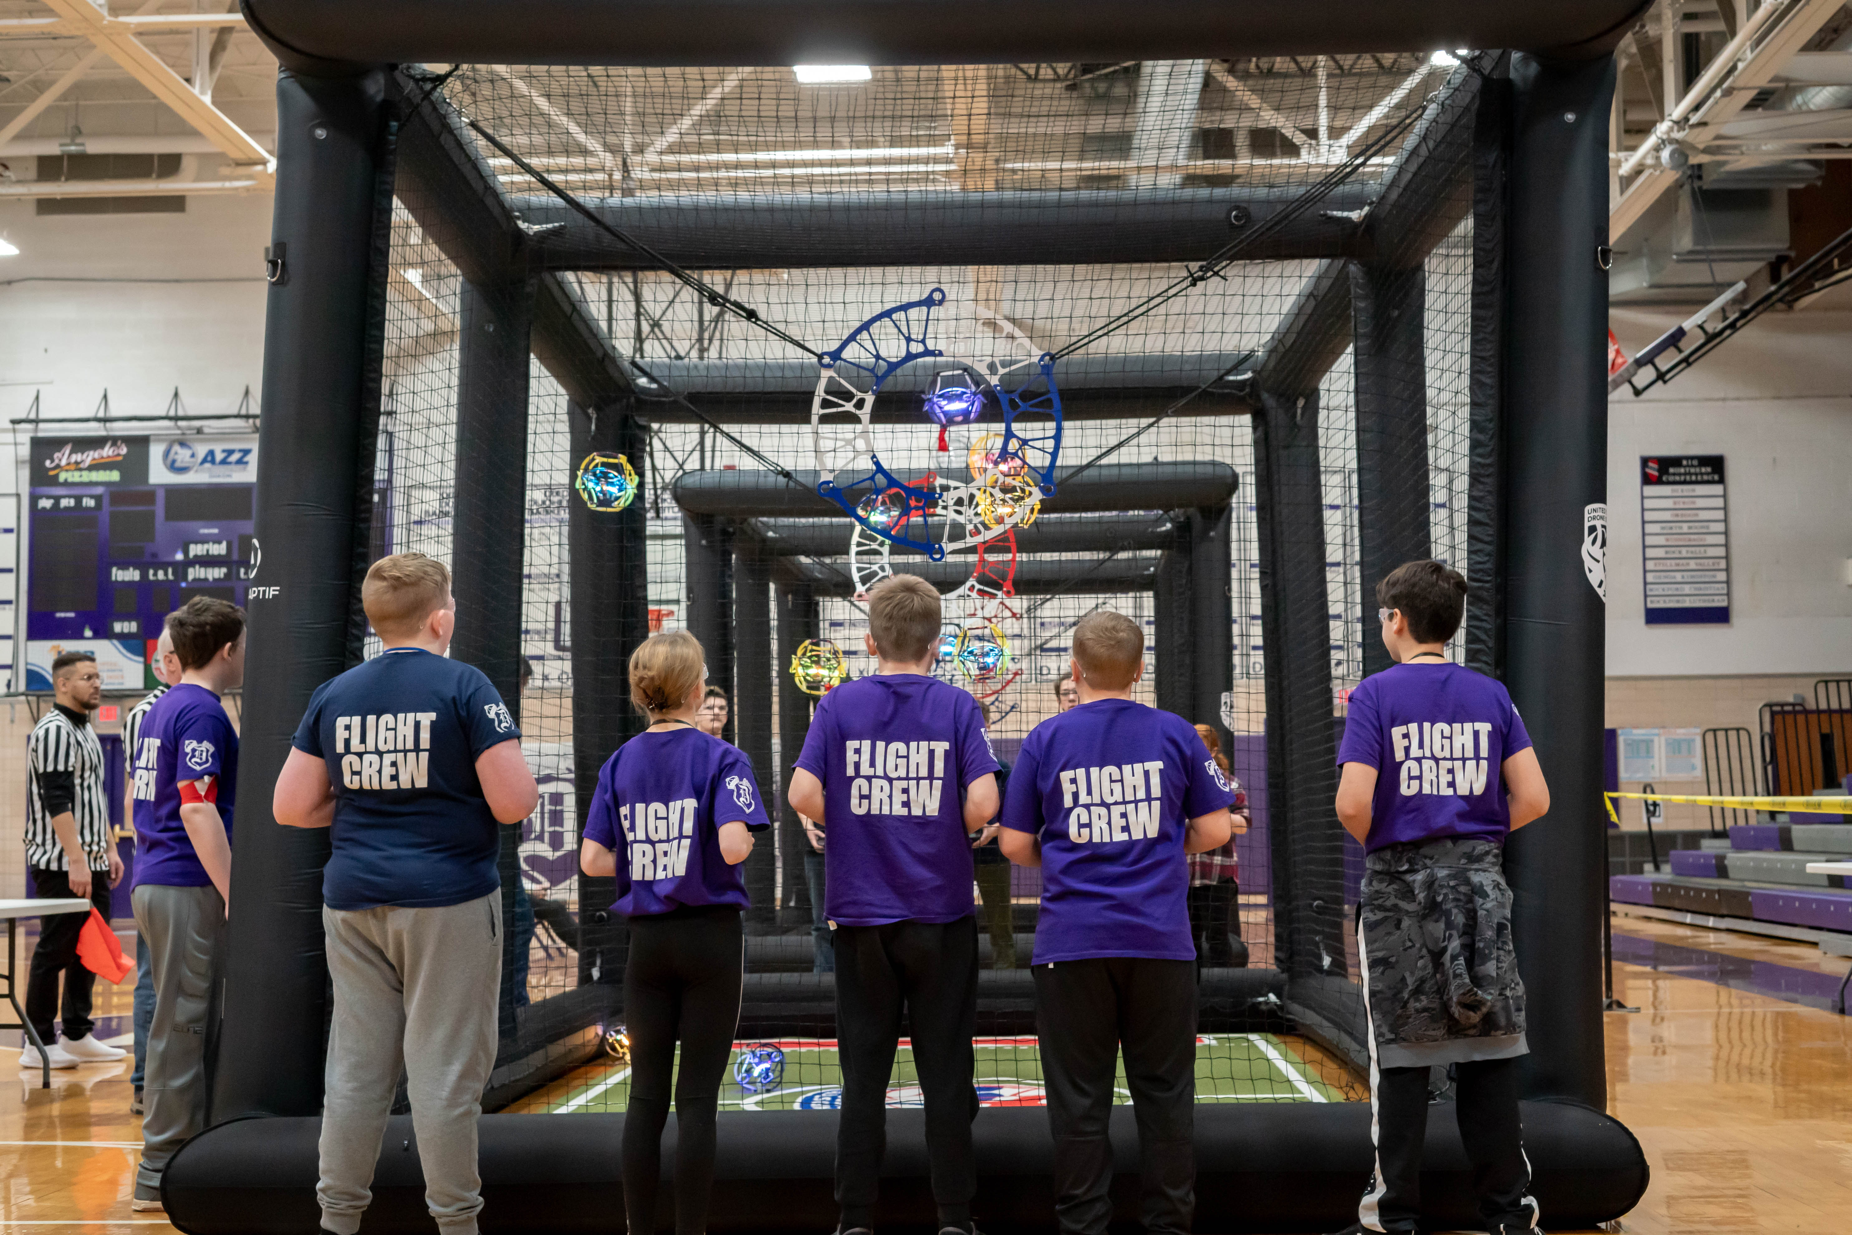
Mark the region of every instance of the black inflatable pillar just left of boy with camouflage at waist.
[[1295, 978], [1343, 978], [1345, 833], [1335, 807], [1317, 391], [1261, 394], [1254, 415], [1254, 483], [1267, 659], [1274, 965]]

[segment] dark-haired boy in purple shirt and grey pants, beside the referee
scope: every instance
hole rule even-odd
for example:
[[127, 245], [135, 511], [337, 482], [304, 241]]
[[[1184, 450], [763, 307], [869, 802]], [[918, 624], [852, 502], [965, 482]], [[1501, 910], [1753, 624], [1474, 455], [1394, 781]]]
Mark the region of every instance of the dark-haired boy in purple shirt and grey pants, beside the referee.
[[154, 970], [137, 1211], [161, 1207], [167, 1159], [206, 1128], [206, 1028], [237, 794], [237, 731], [219, 696], [244, 681], [244, 611], [194, 596], [167, 615], [167, 633], [180, 683], [135, 733], [135, 928]]

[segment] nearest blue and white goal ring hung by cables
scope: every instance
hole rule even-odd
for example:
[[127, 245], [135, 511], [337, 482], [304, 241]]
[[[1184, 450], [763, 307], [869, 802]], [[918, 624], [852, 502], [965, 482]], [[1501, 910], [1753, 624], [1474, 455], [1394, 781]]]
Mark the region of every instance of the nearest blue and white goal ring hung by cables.
[[[1017, 331], [1013, 354], [948, 354], [933, 346], [943, 287], [920, 300], [876, 313], [819, 359], [811, 396], [811, 446], [817, 454], [817, 493], [848, 513], [874, 535], [943, 561], [970, 550], [1006, 528], [1033, 518], [1039, 498], [996, 502], [983, 498], [983, 476], [970, 483], [930, 478], [924, 485], [900, 480], [874, 446], [874, 398], [895, 372], [922, 359], [948, 359], [969, 374], [965, 385], [939, 374], [928, 405], [948, 415], [982, 415], [985, 396], [1002, 413], [1002, 448], [996, 470], [1009, 487], [1039, 496], [1054, 494], [1054, 470], [1061, 455], [1061, 394], [1054, 381], [1054, 356], [1037, 354]], [[952, 394], [954, 398], [946, 398]], [[946, 420], [941, 420], [941, 426]], [[933, 483], [937, 481], [937, 483]]]

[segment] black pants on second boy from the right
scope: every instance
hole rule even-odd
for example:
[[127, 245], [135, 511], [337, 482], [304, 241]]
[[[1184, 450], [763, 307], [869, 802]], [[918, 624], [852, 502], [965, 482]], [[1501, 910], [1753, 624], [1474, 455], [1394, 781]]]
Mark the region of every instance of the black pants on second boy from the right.
[[1056, 1218], [1067, 1235], [1104, 1235], [1113, 1216], [1113, 1070], [1139, 1122], [1141, 1220], [1187, 1235], [1196, 1213], [1196, 963], [1150, 957], [1035, 967]]

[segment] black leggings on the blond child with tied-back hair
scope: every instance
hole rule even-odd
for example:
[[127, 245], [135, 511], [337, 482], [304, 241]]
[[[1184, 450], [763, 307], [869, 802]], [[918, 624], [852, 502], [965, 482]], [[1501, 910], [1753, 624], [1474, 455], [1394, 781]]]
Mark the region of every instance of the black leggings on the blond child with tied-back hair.
[[739, 1028], [743, 970], [745, 935], [739, 909], [732, 905], [630, 918], [630, 965], [624, 970], [624, 1024], [630, 1029], [624, 1218], [632, 1235], [656, 1229], [670, 1078], [676, 1102], [676, 1235], [707, 1229], [713, 1113]]

